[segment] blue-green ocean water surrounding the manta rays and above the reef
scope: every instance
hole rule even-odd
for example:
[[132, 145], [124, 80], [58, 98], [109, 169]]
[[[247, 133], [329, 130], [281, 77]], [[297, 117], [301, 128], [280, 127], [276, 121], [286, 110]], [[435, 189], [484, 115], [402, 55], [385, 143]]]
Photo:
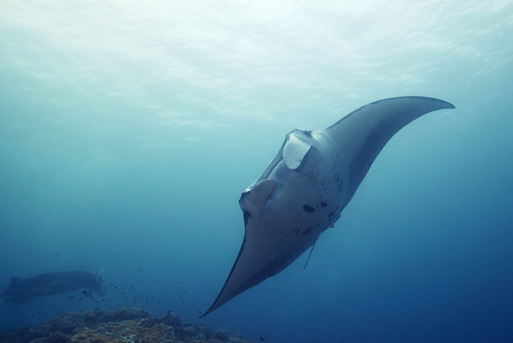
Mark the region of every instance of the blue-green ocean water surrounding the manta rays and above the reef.
[[269, 342], [513, 341], [512, 1], [0, 7], [0, 286], [82, 268], [125, 285], [0, 304], [0, 331], [125, 304], [197, 321], [285, 134], [419, 95], [456, 110], [387, 143], [305, 270], [309, 251], [201, 320]]

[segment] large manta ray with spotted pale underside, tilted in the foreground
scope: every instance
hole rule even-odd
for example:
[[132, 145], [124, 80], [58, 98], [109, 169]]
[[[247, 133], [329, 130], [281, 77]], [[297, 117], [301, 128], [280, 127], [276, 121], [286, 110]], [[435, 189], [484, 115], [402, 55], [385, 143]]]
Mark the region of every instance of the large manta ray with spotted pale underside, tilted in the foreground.
[[389, 98], [324, 130], [291, 131], [241, 195], [242, 247], [223, 289], [201, 317], [278, 274], [314, 245], [340, 218], [374, 159], [401, 128], [426, 113], [454, 108], [433, 98]]

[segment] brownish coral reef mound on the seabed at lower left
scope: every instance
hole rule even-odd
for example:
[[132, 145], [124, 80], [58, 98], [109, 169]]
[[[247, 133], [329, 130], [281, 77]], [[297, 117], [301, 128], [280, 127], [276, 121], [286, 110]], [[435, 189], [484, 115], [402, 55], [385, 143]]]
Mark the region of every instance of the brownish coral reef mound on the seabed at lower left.
[[242, 336], [230, 337], [224, 330], [212, 331], [205, 324], [182, 323], [167, 312], [152, 318], [147, 310], [129, 307], [70, 312], [45, 325], [10, 330], [0, 334], [0, 343], [252, 343]]

